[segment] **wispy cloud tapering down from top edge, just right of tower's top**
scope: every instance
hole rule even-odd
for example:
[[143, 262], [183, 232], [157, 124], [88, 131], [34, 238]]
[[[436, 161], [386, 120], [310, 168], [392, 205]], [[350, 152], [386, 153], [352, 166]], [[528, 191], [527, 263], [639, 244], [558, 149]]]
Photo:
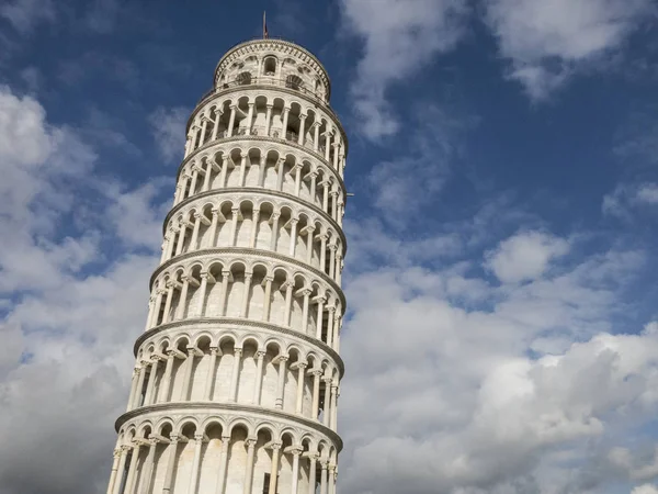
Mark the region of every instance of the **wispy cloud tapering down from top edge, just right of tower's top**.
[[341, 0], [349, 32], [364, 41], [351, 93], [360, 131], [371, 139], [395, 134], [399, 120], [386, 99], [390, 83], [412, 80], [463, 34], [466, 0]]

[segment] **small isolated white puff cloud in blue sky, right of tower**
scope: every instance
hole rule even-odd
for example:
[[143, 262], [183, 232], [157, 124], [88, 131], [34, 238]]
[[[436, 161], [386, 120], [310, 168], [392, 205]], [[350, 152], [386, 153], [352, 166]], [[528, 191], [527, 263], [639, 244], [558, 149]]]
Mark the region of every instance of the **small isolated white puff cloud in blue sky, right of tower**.
[[535, 280], [553, 259], [569, 251], [569, 243], [541, 232], [522, 232], [487, 254], [486, 266], [503, 283]]

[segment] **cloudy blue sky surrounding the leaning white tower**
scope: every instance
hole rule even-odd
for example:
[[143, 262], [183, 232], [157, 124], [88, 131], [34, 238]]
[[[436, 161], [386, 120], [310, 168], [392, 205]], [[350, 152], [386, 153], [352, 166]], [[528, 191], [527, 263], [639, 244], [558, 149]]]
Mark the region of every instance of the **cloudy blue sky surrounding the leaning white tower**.
[[350, 137], [345, 494], [658, 493], [651, 0], [0, 4], [0, 494], [104, 492], [186, 117], [315, 53]]

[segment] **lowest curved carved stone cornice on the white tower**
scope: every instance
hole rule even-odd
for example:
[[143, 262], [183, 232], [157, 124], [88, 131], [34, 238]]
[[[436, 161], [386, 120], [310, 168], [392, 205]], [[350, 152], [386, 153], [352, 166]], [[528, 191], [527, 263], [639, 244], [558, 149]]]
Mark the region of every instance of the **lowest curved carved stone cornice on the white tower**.
[[304, 427], [314, 429], [320, 434], [324, 434], [328, 438], [330, 438], [333, 441], [333, 445], [336, 446], [336, 449], [339, 452], [342, 450], [342, 447], [343, 447], [342, 439], [340, 438], [340, 436], [336, 431], [331, 430], [329, 427], [326, 427], [318, 422], [311, 420], [306, 417], [300, 417], [298, 415], [288, 414], [286, 412], [282, 412], [282, 411], [274, 409], [274, 408], [264, 408], [264, 407], [254, 406], [254, 405], [242, 405], [242, 404], [238, 404], [238, 403], [180, 402], [180, 403], [158, 403], [156, 405], [141, 406], [139, 408], [132, 409], [132, 411], [126, 412], [125, 414], [121, 415], [114, 423], [114, 428], [118, 433], [121, 430], [121, 427], [126, 422], [128, 422], [135, 417], [138, 417], [140, 415], [148, 415], [149, 413], [171, 411], [171, 412], [180, 412], [181, 414], [184, 414], [185, 412], [188, 412], [190, 409], [198, 409], [198, 408], [216, 411], [218, 415], [222, 414], [223, 411], [248, 412], [248, 413], [262, 415], [268, 418], [276, 417], [280, 419], [296, 422]]

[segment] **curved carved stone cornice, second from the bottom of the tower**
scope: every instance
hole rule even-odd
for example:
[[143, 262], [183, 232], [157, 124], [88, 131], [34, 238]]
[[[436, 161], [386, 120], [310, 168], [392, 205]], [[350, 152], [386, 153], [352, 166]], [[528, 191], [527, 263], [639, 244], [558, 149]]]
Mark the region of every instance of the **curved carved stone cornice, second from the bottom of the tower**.
[[[325, 353], [327, 353], [329, 357], [331, 357], [333, 359], [333, 361], [336, 362], [336, 364], [338, 366], [338, 370], [340, 372], [341, 379], [345, 373], [345, 366], [343, 363], [342, 358], [340, 357], [340, 355], [338, 355], [338, 352], [333, 348], [331, 348], [326, 343], [324, 343], [317, 338], [314, 338], [311, 336], [305, 335], [303, 333], [296, 332], [294, 329], [290, 329], [284, 326], [279, 326], [276, 324], [265, 323], [262, 321], [252, 321], [252, 319], [245, 319], [245, 318], [238, 318], [238, 317], [226, 317], [226, 316], [225, 317], [197, 317], [197, 318], [189, 318], [189, 319], [183, 319], [183, 321], [175, 321], [173, 323], [161, 324], [161, 325], [156, 326], [156, 327], [143, 333], [141, 335], [139, 335], [139, 337], [137, 338], [137, 340], [135, 341], [135, 345], [133, 347], [133, 352], [135, 353], [135, 357], [137, 357], [139, 347], [141, 347], [141, 345], [148, 338], [151, 338], [152, 336], [156, 336], [160, 333], [164, 333], [168, 329], [186, 327], [186, 326], [195, 326], [195, 325], [211, 325], [211, 324], [212, 325], [226, 325], [226, 326], [246, 326], [246, 327], [253, 328], [253, 329], [265, 328], [271, 332], [281, 333], [283, 335], [291, 336], [293, 338], [302, 339], [302, 340], [306, 341], [307, 344], [319, 347]], [[206, 330], [205, 327], [203, 329]]]

